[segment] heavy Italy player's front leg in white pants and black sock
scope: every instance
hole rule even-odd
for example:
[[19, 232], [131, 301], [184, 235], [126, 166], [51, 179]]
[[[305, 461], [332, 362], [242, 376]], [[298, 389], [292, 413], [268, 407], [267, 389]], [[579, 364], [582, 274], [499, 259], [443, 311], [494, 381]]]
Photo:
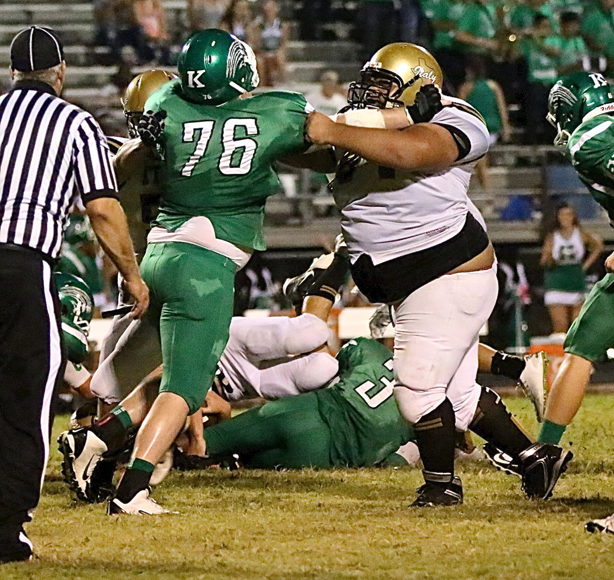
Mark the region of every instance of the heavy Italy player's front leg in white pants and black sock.
[[[395, 308], [394, 393], [403, 417], [414, 425], [424, 464], [427, 485], [419, 500], [447, 493], [453, 483], [456, 418], [446, 391], [467, 351], [476, 345], [496, 297], [496, 277], [489, 269], [441, 276]], [[479, 397], [476, 354], [473, 382], [462, 403], [473, 404], [472, 412]], [[448, 495], [451, 503], [462, 498]]]

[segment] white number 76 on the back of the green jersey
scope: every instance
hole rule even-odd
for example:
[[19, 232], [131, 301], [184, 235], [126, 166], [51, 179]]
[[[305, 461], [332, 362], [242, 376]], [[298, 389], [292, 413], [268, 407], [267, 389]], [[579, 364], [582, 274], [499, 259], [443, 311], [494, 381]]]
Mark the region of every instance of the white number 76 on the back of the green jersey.
[[[215, 121], [184, 123], [184, 143], [193, 143], [196, 131], [200, 131], [200, 136], [196, 141], [194, 152], [181, 170], [183, 176], [190, 177], [196, 163], [207, 152], [215, 124]], [[249, 137], [235, 138], [237, 127], [243, 127], [247, 135], [260, 135], [255, 119], [228, 119], [224, 123], [222, 128], [222, 155], [217, 162], [217, 168], [224, 175], [245, 175], [249, 173], [252, 169], [256, 147], [258, 147], [258, 143]]]

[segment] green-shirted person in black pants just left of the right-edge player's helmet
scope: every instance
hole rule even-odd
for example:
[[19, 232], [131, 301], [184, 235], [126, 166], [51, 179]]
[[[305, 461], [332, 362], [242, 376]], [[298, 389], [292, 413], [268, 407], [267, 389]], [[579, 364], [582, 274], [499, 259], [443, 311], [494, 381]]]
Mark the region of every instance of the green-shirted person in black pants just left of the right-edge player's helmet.
[[546, 121], [548, 93], [558, 78], [556, 67], [561, 56], [562, 39], [553, 34], [548, 17], [538, 14], [530, 33], [520, 42], [520, 52], [527, 63], [524, 92], [527, 144], [549, 143], [553, 139]]

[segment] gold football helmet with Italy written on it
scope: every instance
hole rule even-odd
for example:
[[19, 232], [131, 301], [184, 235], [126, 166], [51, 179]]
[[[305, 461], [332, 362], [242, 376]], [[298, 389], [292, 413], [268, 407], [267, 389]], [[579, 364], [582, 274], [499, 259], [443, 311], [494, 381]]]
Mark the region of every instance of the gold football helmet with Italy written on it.
[[350, 84], [348, 103], [356, 109], [406, 106], [428, 84], [443, 85], [435, 57], [417, 44], [393, 42], [363, 66], [360, 80]]

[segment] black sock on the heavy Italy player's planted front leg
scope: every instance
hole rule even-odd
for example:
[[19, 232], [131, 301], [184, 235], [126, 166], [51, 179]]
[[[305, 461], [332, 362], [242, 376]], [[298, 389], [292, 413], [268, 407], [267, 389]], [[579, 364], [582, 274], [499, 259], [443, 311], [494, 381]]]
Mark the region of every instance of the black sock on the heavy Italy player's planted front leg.
[[414, 425], [427, 484], [448, 485], [454, 476], [454, 409], [448, 398]]

